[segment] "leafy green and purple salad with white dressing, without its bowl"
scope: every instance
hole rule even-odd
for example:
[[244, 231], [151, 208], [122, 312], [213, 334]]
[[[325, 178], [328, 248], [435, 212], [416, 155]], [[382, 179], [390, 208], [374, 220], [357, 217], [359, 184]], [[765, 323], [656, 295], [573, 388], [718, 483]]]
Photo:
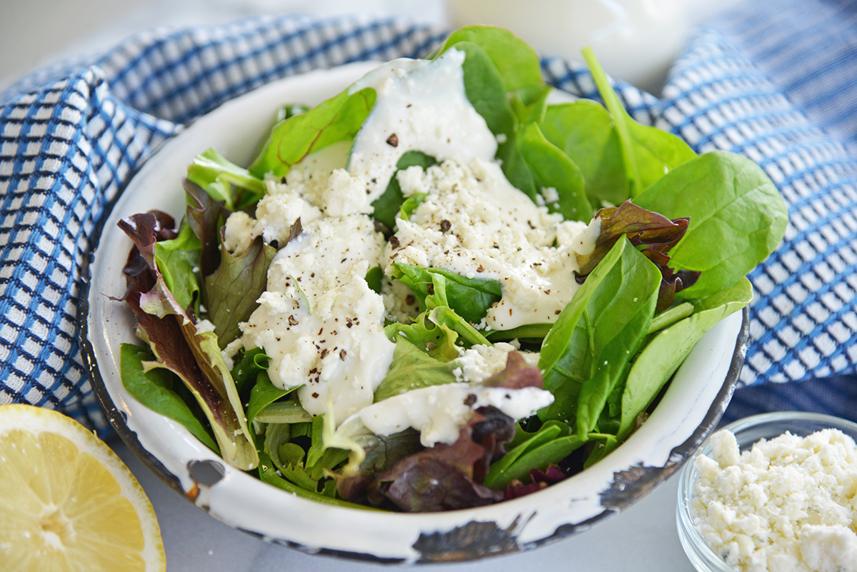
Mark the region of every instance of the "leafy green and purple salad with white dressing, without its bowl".
[[787, 212], [752, 161], [554, 103], [530, 46], [465, 27], [288, 104], [246, 168], [214, 149], [146, 212], [123, 295], [132, 396], [324, 503], [516, 498], [608, 455], [746, 306]]

